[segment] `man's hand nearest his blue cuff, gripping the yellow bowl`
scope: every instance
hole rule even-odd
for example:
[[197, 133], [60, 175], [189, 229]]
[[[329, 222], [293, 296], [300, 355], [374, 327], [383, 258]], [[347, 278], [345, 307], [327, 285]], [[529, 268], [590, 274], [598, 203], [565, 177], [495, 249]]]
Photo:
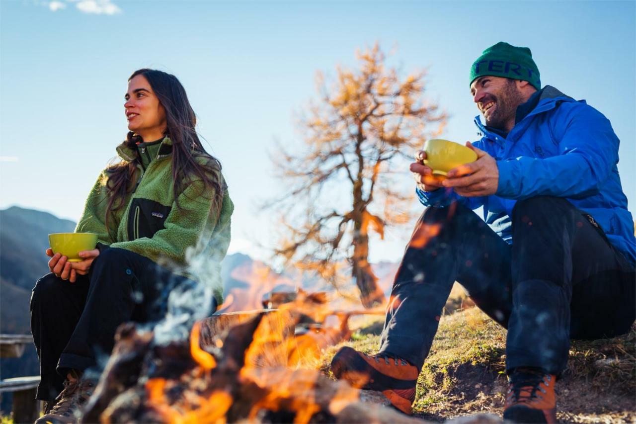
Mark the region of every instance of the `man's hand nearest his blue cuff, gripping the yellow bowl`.
[[466, 146], [477, 153], [477, 160], [448, 171], [443, 187], [453, 187], [457, 194], [465, 197], [495, 194], [499, 186], [497, 161], [470, 142]]

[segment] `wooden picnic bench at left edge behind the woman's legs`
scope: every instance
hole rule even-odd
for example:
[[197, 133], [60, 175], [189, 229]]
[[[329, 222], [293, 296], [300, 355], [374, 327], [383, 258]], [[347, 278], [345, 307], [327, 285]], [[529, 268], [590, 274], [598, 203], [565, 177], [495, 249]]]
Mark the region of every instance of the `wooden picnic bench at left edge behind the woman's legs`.
[[[0, 334], [0, 357], [19, 358], [33, 337], [27, 334]], [[0, 380], [0, 394], [13, 393], [13, 422], [32, 423], [39, 417], [40, 402], [36, 400], [39, 376]]]

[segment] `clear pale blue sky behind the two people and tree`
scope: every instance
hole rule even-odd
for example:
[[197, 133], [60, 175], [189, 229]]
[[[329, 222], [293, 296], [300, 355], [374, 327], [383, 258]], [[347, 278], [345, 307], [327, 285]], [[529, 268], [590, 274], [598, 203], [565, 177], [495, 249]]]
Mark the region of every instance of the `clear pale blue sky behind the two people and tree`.
[[[78, 219], [127, 132], [128, 76], [155, 67], [181, 80], [223, 163], [232, 251], [263, 257], [254, 244], [272, 243], [274, 216], [258, 204], [284, 192], [268, 153], [275, 140], [300, 145], [294, 117], [316, 97], [316, 71], [335, 74], [375, 41], [404, 73], [428, 69], [455, 141], [477, 138], [473, 60], [497, 41], [529, 46], [544, 84], [611, 120], [636, 211], [634, 1], [1, 1], [0, 208]], [[413, 184], [406, 169], [403, 181]], [[371, 259], [399, 260], [410, 227], [374, 241]]]

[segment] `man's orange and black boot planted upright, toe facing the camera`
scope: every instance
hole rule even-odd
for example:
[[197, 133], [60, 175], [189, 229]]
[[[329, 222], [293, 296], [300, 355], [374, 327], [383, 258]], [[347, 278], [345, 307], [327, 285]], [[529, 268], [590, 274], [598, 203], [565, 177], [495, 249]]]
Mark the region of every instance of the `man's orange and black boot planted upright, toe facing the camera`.
[[515, 423], [556, 423], [556, 376], [539, 369], [518, 369], [510, 375], [504, 420]]

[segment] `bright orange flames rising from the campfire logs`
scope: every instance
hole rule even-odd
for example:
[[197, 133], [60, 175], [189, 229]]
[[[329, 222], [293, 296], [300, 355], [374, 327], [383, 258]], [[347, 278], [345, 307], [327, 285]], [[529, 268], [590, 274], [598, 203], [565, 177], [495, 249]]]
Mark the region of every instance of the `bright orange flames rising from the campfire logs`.
[[[287, 282], [259, 265], [235, 271], [233, 278], [249, 283], [249, 290], [244, 290], [245, 296], [232, 292], [220, 309], [228, 314], [232, 309], [238, 309], [237, 314], [252, 317], [263, 313], [262, 310], [250, 311], [262, 307], [263, 295], [275, 285]], [[391, 301], [399, 302], [399, 299]], [[254, 392], [260, 393], [261, 399], [251, 399], [245, 406], [245, 413], [249, 411], [247, 421], [258, 421], [262, 418], [262, 411], [269, 410], [290, 411], [295, 414], [294, 423], [307, 423], [323, 408], [327, 407], [331, 413], [337, 414], [351, 402], [359, 400], [359, 390], [345, 383], [335, 383], [337, 386], [327, 388], [324, 378], [315, 368], [324, 349], [350, 337], [349, 316], [384, 314], [384, 307], [334, 311], [333, 306], [326, 293], [298, 290], [293, 300], [280, 304], [279, 309], [265, 311], [254, 330], [252, 343], [245, 350], [245, 365], [239, 372], [240, 384], [257, 385], [263, 389], [262, 392]], [[339, 325], [328, 322], [329, 317], [337, 317], [335, 321]], [[294, 336], [294, 327], [299, 322], [314, 322], [314, 328]], [[149, 404], [161, 414], [162, 420], [172, 424], [225, 423], [235, 401], [225, 390], [210, 393], [213, 389], [209, 383], [214, 383], [215, 373], [219, 370], [216, 369], [215, 358], [200, 344], [201, 326], [202, 322], [195, 323], [190, 334], [191, 357], [198, 367], [179, 380], [153, 378], [146, 383]], [[212, 343], [219, 348], [223, 346], [221, 339]], [[174, 390], [184, 384], [187, 385], [186, 390]], [[329, 390], [329, 397], [322, 393], [324, 389]], [[243, 401], [240, 399], [240, 402]]]

